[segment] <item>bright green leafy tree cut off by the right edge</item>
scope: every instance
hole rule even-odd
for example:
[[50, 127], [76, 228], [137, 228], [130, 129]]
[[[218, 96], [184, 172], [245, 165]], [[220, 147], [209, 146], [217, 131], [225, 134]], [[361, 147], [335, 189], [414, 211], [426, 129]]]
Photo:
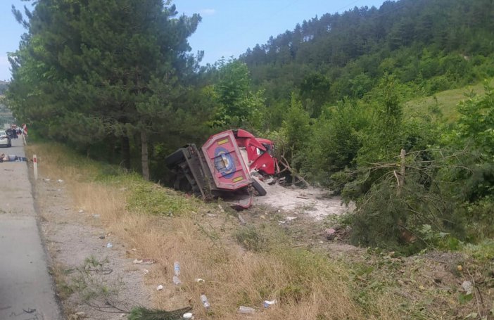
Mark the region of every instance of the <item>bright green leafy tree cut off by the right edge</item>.
[[445, 179], [454, 182], [455, 196], [460, 205], [456, 212], [469, 226], [469, 238], [481, 241], [493, 236], [490, 212], [494, 191], [494, 90], [486, 82], [486, 94], [469, 94], [458, 105], [460, 117], [455, 129], [443, 134], [442, 143], [467, 151], [465, 165], [444, 172]]

